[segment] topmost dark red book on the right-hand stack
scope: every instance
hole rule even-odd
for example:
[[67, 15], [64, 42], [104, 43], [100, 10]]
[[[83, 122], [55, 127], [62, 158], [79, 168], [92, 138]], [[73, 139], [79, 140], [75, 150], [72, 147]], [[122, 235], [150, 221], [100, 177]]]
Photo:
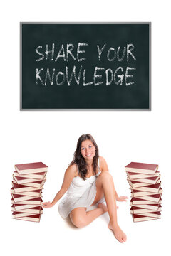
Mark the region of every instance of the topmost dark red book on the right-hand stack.
[[155, 174], [157, 169], [157, 164], [145, 164], [137, 162], [131, 162], [130, 164], [125, 166], [125, 171], [130, 171], [137, 174]]

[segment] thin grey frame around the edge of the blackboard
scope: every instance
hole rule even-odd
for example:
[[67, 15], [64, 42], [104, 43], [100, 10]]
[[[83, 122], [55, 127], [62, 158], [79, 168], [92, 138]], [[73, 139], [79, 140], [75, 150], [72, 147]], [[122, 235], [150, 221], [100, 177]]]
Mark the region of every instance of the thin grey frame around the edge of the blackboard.
[[[23, 108], [22, 102], [22, 25], [23, 24], [148, 24], [149, 25], [149, 108], [145, 109], [119, 109], [119, 108], [108, 108], [108, 109], [86, 109], [86, 108], [36, 108], [29, 109]], [[21, 111], [149, 111], [151, 110], [151, 22], [20, 22], [20, 110]]]

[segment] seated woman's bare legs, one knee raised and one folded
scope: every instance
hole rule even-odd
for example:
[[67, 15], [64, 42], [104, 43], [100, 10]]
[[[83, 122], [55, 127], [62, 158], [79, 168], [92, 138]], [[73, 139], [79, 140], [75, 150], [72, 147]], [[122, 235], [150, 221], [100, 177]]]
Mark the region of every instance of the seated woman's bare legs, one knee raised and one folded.
[[115, 238], [118, 239], [119, 242], [125, 242], [126, 235], [120, 229], [117, 222], [117, 207], [115, 202], [115, 187], [113, 183], [113, 178], [108, 171], [103, 171], [98, 176], [96, 181], [96, 190], [97, 191], [95, 201], [92, 205], [98, 203], [98, 201], [104, 195], [107, 207], [103, 203], [99, 203], [98, 208], [96, 208], [95, 210], [90, 210], [88, 212], [86, 212], [86, 208], [75, 208], [70, 213], [72, 223], [78, 228], [83, 228], [84, 226], [95, 220], [95, 218], [98, 218], [98, 216], [108, 211], [110, 216], [108, 228], [113, 230]]

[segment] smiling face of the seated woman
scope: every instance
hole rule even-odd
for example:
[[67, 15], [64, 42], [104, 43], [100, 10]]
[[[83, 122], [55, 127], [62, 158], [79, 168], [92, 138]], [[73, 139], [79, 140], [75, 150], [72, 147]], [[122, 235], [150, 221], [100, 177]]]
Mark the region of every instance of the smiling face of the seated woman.
[[90, 139], [87, 139], [81, 143], [81, 154], [86, 160], [92, 160], [94, 158], [95, 146], [93, 145], [93, 142], [90, 141]]

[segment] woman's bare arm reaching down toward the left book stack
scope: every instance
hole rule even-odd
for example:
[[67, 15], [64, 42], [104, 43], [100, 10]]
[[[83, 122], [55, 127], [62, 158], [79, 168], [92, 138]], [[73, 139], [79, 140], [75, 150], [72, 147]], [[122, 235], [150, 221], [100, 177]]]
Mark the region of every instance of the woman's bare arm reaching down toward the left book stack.
[[60, 191], [58, 191], [58, 193], [56, 194], [56, 196], [53, 198], [53, 201], [52, 202], [45, 202], [42, 204], [43, 208], [49, 208], [49, 207], [52, 207], [54, 206], [58, 200], [64, 195], [64, 193], [66, 193], [66, 191], [68, 190], [70, 184], [71, 184], [71, 181], [73, 180], [73, 178], [76, 176], [77, 174], [77, 167], [76, 167], [76, 164], [73, 164], [72, 166], [69, 166], [67, 169], [66, 169], [66, 172], [65, 172], [65, 175], [64, 175], [64, 178], [63, 178], [63, 183], [62, 183], [62, 186], [61, 186], [61, 189]]

